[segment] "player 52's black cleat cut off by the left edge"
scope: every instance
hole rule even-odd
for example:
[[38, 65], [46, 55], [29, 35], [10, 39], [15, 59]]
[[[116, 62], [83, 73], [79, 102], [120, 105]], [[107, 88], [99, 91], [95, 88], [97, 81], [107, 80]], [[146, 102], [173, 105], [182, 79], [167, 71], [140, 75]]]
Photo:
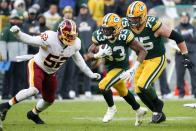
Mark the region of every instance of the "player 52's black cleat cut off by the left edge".
[[8, 102], [0, 104], [0, 118], [2, 121], [5, 120], [7, 111], [10, 109], [10, 105]]

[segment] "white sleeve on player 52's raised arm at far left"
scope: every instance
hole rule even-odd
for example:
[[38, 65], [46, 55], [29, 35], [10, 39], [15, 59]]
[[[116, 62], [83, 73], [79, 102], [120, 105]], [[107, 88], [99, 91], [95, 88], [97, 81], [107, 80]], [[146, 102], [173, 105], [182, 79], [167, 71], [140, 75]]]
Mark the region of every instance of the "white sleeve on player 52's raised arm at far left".
[[43, 39], [47, 39], [48, 35], [42, 33], [40, 36], [30, 36], [22, 31], [17, 34], [17, 37], [24, 43], [32, 46], [46, 46]]

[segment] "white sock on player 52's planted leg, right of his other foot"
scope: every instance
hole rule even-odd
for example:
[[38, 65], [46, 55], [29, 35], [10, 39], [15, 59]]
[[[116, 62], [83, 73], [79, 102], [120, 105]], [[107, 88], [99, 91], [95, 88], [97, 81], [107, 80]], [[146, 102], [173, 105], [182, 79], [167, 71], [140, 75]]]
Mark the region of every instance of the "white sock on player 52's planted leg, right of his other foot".
[[33, 108], [32, 112], [38, 115], [40, 112], [47, 109], [52, 103], [46, 102], [45, 100], [41, 99], [37, 102], [37, 105]]

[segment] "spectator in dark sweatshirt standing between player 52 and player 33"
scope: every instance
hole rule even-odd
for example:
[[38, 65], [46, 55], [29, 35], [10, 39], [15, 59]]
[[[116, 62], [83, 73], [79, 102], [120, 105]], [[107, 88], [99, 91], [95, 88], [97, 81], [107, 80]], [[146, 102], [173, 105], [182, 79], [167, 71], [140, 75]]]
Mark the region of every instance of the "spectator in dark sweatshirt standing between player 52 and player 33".
[[[78, 26], [78, 35], [82, 43], [82, 54], [85, 55], [88, 52], [88, 48], [91, 44], [92, 33], [97, 28], [96, 22], [91, 18], [88, 11], [88, 6], [86, 4], [82, 4], [80, 7], [79, 16], [76, 18], [76, 25]], [[88, 66], [90, 66], [89, 61], [87, 62], [87, 64]], [[78, 71], [76, 71], [76, 73], [79, 73], [79, 69]], [[79, 76], [79, 74], [75, 76]], [[87, 97], [91, 97], [90, 86], [91, 80], [83, 75], [83, 87], [85, 96]]]

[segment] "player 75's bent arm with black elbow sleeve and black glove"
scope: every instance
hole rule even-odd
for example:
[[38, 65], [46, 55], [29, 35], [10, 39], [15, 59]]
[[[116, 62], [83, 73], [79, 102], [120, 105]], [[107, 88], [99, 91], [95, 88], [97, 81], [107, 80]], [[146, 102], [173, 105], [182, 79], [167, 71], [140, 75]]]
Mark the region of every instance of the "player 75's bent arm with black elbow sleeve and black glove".
[[174, 40], [177, 43], [177, 46], [179, 47], [180, 52], [184, 58], [184, 61], [183, 61], [184, 66], [189, 69], [193, 67], [193, 63], [188, 57], [188, 49], [187, 49], [186, 43], [180, 33], [162, 24], [161, 27], [155, 32], [155, 35], [157, 37], [163, 36], [163, 37]]

